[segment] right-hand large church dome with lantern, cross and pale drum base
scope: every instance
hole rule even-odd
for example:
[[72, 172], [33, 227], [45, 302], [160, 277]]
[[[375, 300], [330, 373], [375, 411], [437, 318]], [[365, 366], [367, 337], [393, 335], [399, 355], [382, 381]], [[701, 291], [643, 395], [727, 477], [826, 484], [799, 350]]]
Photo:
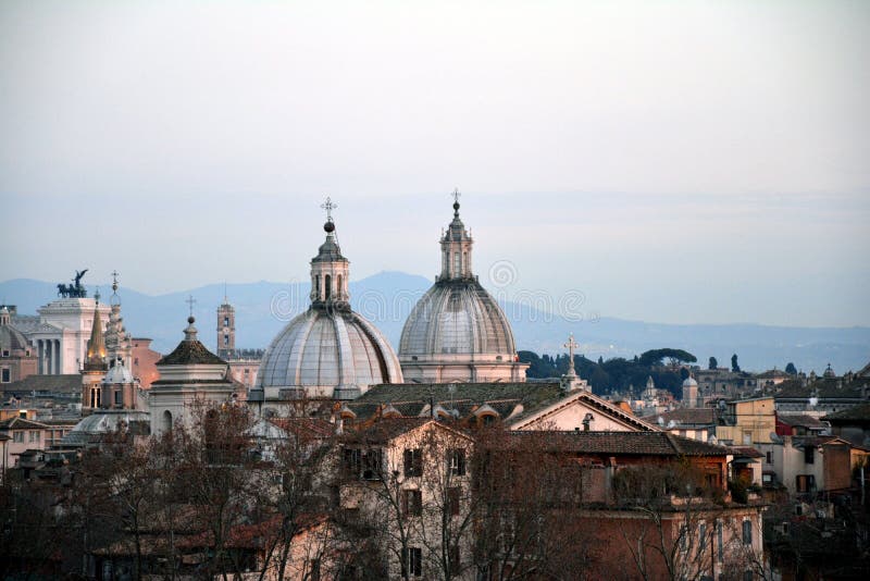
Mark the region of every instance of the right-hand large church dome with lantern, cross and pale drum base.
[[440, 239], [442, 273], [414, 306], [399, 342], [405, 381], [417, 383], [522, 382], [510, 323], [472, 269], [474, 240], [459, 218]]

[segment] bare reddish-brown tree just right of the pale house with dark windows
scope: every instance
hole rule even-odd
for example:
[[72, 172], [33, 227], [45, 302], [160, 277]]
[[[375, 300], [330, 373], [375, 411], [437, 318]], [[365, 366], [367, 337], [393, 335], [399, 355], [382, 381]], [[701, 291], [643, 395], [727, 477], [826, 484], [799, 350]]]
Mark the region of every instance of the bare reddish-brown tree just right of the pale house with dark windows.
[[[558, 434], [477, 434], [474, 559], [477, 578], [584, 579], [599, 543], [582, 516], [584, 465], [556, 453]], [[519, 478], [518, 478], [519, 477]]]

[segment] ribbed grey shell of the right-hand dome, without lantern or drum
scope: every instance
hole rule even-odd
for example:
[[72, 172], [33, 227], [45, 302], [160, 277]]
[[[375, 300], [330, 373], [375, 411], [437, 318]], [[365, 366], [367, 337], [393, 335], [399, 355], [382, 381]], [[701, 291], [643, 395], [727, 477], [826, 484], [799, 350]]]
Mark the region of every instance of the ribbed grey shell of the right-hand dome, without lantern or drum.
[[438, 281], [418, 301], [401, 331], [399, 357], [492, 355], [510, 361], [513, 333], [476, 280]]

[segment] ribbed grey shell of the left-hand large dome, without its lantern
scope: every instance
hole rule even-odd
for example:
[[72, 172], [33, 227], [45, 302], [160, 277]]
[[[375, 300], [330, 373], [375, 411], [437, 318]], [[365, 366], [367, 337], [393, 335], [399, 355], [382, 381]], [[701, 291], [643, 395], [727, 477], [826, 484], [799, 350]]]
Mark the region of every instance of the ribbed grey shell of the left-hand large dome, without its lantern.
[[399, 361], [381, 332], [337, 308], [312, 307], [294, 318], [272, 341], [257, 374], [259, 388], [319, 388], [308, 392], [325, 397], [401, 382]]

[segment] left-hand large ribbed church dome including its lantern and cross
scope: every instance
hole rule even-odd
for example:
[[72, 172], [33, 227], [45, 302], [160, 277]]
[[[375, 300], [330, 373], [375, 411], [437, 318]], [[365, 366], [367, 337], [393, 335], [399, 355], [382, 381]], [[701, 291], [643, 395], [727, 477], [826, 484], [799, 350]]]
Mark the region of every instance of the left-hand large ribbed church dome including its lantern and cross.
[[[334, 208], [328, 198], [324, 208]], [[311, 306], [278, 333], [263, 355], [254, 400], [352, 399], [369, 385], [402, 383], [389, 342], [350, 309], [350, 262], [341, 255], [332, 215], [327, 214], [323, 230], [326, 242], [311, 259]]]

